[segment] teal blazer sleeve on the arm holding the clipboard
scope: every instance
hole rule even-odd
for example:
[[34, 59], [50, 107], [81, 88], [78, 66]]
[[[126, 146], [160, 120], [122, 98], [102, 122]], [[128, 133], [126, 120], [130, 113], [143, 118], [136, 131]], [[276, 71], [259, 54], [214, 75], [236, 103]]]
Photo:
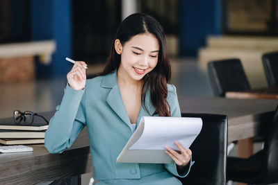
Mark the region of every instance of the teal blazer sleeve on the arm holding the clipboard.
[[[172, 117], [181, 117], [181, 109], [179, 108], [179, 100], [177, 98], [177, 90], [176, 90], [176, 87], [174, 87], [174, 85], [168, 85], [168, 97], [169, 98], [167, 98], [167, 102], [170, 105], [171, 116]], [[175, 164], [174, 162], [172, 164], [164, 164], [164, 167], [170, 173], [172, 173], [172, 175], [175, 175], [178, 177], [186, 177], [186, 175], [188, 175], [188, 173], [190, 172], [191, 166], [193, 166], [194, 163], [195, 163], [195, 161], [192, 161], [192, 156], [191, 156], [190, 162], [188, 163], [186, 170], [182, 174], [178, 173], [177, 164]]]

